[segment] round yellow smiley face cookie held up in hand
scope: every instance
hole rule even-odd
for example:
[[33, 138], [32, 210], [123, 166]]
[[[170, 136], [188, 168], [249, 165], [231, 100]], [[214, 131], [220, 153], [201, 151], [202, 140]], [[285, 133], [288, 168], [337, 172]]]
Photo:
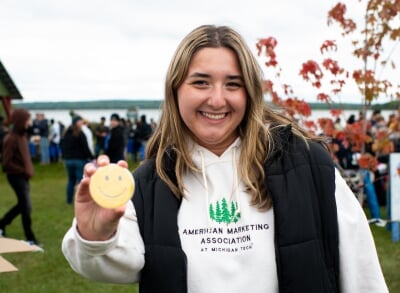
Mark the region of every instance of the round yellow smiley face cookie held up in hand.
[[96, 170], [90, 178], [89, 190], [99, 206], [112, 209], [123, 206], [131, 199], [135, 182], [128, 169], [109, 164]]

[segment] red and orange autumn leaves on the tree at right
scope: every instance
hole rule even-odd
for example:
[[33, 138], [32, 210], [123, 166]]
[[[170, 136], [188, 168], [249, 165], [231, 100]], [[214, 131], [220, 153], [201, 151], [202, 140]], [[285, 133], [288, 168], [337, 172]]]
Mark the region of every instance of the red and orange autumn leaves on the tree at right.
[[[374, 98], [378, 98], [382, 94], [400, 99], [399, 85], [397, 85], [395, 93], [389, 95], [389, 89], [392, 88], [392, 84], [388, 80], [379, 80], [376, 78], [376, 76], [379, 76], [379, 73], [376, 71], [377, 66], [380, 65], [384, 67], [388, 65], [391, 66], [392, 69], [396, 68], [394, 61], [390, 58], [383, 58], [384, 50], [382, 43], [385, 37], [393, 42], [400, 40], [400, 28], [397, 28], [398, 16], [400, 14], [400, 0], [368, 0], [366, 2], [366, 23], [362, 23], [365, 27], [360, 31], [362, 39], [352, 42], [354, 46], [353, 55], [364, 62], [362, 69], [354, 70], [353, 73], [349, 73], [345, 68], [340, 67], [336, 60], [329, 57], [323, 59], [322, 63], [320, 63], [321, 66], [314, 60], [308, 60], [302, 64], [299, 71], [299, 75], [303, 80], [310, 82], [311, 85], [317, 89], [322, 88], [322, 81], [327, 80], [326, 84], [330, 85], [330, 94], [335, 96], [341, 93], [347, 80], [353, 79], [362, 94], [364, 106], [370, 105]], [[339, 24], [342, 28], [343, 36], [349, 35], [357, 29], [356, 23], [352, 19], [346, 17], [346, 12], [346, 5], [337, 3], [328, 12], [327, 18], [328, 25], [332, 23]], [[391, 20], [395, 21], [395, 25], [389, 24]], [[256, 44], [258, 56], [263, 55], [267, 57], [265, 65], [267, 67], [273, 67], [276, 70], [279, 69], [275, 53], [277, 44], [278, 42], [274, 37], [260, 39]], [[322, 55], [336, 51], [337, 44], [334, 40], [326, 40], [320, 47]], [[372, 66], [369, 67], [373, 69], [369, 69], [367, 64], [372, 64]], [[333, 77], [329, 78], [328, 76], [330, 75]], [[275, 77], [280, 78], [280, 69]], [[283, 82], [279, 82], [279, 85], [283, 89], [284, 98], [280, 97], [277, 91], [274, 90], [274, 83], [271, 80], [265, 81], [264, 91], [272, 97], [272, 102], [274, 104], [281, 107], [286, 115], [295, 117], [296, 119], [298, 119], [296, 115], [302, 115], [303, 117], [311, 115], [309, 104], [304, 100], [293, 97], [294, 91], [290, 85]], [[317, 100], [333, 104], [333, 98], [330, 94], [319, 92]], [[342, 130], [337, 130], [335, 129], [332, 117], [339, 117], [342, 114], [342, 110], [331, 109], [330, 114], [331, 117], [320, 118], [317, 123], [311, 120], [303, 120], [301, 123], [312, 133], [318, 128], [321, 129], [324, 135], [340, 140], [341, 144], [345, 147], [351, 146], [354, 152], [363, 151], [363, 146], [372, 141], [371, 136], [366, 133], [365, 129], [367, 128], [368, 130], [370, 124], [367, 124], [365, 127], [365, 121], [356, 121], [353, 124], [346, 125]], [[392, 148], [387, 140], [387, 134], [378, 133], [373, 144], [373, 149], [381, 153], [391, 152]], [[337, 145], [332, 145], [331, 147], [334, 149]], [[377, 159], [368, 153], [363, 154], [358, 163], [361, 168], [368, 170], [375, 170], [378, 164]]]

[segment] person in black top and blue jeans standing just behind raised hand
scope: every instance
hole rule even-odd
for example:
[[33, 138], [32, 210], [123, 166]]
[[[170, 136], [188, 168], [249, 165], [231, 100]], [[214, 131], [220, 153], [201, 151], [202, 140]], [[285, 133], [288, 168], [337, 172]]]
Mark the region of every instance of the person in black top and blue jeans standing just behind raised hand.
[[67, 204], [73, 203], [75, 186], [82, 179], [83, 167], [93, 159], [85, 134], [82, 131], [83, 119], [81, 116], [72, 118], [72, 124], [64, 133], [61, 151], [67, 170]]

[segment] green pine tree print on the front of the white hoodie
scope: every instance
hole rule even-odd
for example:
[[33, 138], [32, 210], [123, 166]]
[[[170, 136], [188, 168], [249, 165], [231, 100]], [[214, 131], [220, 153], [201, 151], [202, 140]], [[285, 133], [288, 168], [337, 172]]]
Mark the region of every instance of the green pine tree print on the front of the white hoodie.
[[240, 219], [238, 203], [232, 201], [230, 204], [228, 204], [226, 198], [222, 198], [220, 201], [218, 200], [215, 205], [211, 203], [208, 213], [210, 219], [217, 223], [237, 223]]

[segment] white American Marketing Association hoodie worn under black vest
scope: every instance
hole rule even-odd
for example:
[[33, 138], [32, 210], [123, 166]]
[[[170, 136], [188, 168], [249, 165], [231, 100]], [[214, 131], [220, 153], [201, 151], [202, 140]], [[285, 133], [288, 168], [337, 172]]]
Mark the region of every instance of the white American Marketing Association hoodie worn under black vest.
[[[239, 139], [221, 156], [193, 145], [192, 158], [201, 172], [184, 174], [187, 190], [178, 214], [189, 293], [278, 292], [273, 210], [261, 212], [250, 205], [237, 174], [239, 154]], [[365, 214], [338, 171], [335, 183], [341, 292], [388, 292]], [[136, 282], [144, 244], [132, 203], [114, 238], [85, 241], [74, 222], [62, 249], [84, 276]]]

